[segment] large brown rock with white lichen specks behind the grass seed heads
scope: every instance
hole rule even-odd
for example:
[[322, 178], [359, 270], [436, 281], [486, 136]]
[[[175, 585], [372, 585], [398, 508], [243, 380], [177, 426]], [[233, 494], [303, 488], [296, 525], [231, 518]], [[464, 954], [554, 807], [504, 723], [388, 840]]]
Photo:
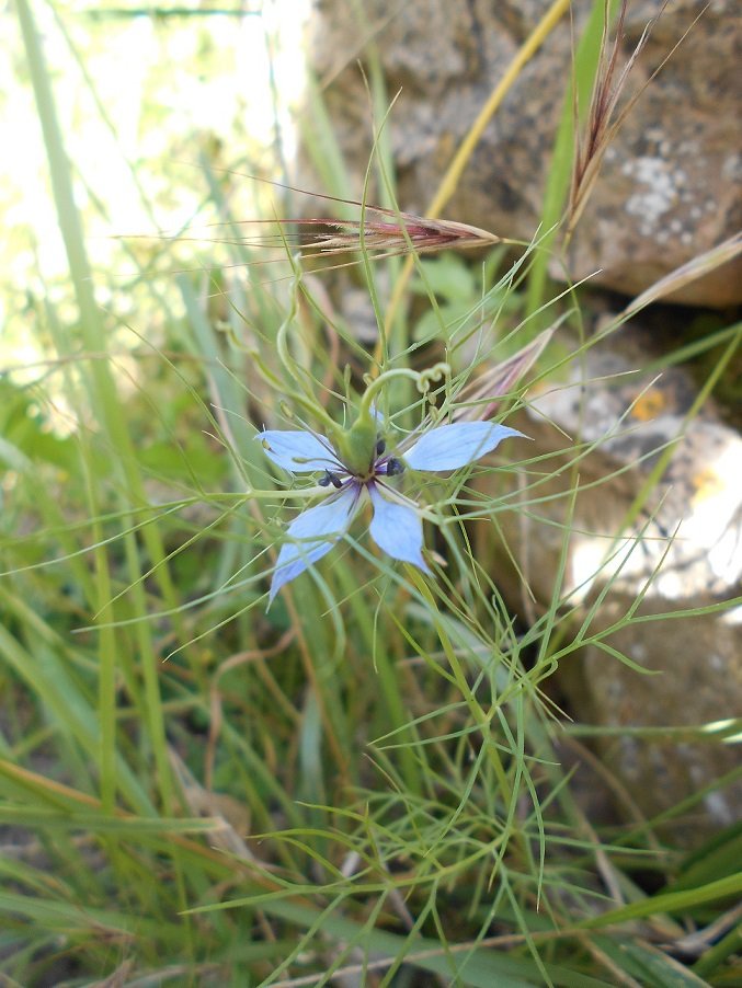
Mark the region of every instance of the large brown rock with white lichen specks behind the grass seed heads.
[[[700, 12], [673, 3], [655, 24], [629, 77], [639, 90]], [[315, 0], [310, 59], [341, 146], [361, 188], [370, 154], [368, 97], [356, 58], [376, 43], [388, 92], [401, 95], [387, 127], [400, 206], [425, 210], [477, 114], [547, 0]], [[578, 30], [584, 8], [577, 12]], [[629, 4], [628, 57], [657, 3]], [[637, 294], [742, 226], [742, 150], [730, 122], [739, 112], [740, 20], [718, 0], [690, 30], [609, 149], [570, 250], [570, 275], [601, 271], [596, 284]], [[568, 84], [569, 18], [528, 62], [488, 126], [454, 199], [450, 219], [529, 239], [537, 230], [549, 156]], [[555, 274], [563, 273], [555, 269]], [[742, 300], [742, 263], [686, 286], [675, 298], [723, 307]]]

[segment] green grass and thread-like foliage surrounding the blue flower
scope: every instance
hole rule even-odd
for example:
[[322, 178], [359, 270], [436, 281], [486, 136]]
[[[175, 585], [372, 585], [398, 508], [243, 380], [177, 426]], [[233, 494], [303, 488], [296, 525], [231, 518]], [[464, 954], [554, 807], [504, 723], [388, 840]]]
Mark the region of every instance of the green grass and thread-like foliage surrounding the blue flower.
[[[568, 525], [552, 599], [532, 621], [492, 575], [504, 513], [539, 517], [557, 469], [571, 505], [594, 445], [552, 457], [512, 440], [486, 466], [409, 484], [437, 553], [432, 578], [385, 560], [356, 525], [266, 611], [285, 524], [306, 498], [254, 441], [263, 425], [340, 422], [366, 376], [445, 358], [449, 374], [426, 394], [407, 377], [381, 392], [396, 428], [414, 428], [429, 398], [455, 412], [472, 376], [551, 323], [538, 365], [501, 400], [515, 416], [528, 384], [560, 381], [601, 338], [562, 342], [568, 328], [564, 340], [580, 338], [581, 298], [555, 288], [543, 303], [537, 250], [514, 266], [498, 251], [468, 268], [416, 259], [377, 364], [295, 260], [244, 266], [230, 193], [247, 182], [208, 153], [192, 180], [203, 188], [194, 218], [220, 217], [235, 242], [182, 260], [182, 242], [129, 240], [100, 269], [38, 11], [16, 8], [69, 274], [31, 306], [47, 363], [0, 382], [8, 983], [735, 984], [739, 927], [724, 919], [742, 886], [739, 828], [688, 853], [662, 829], [673, 814], [598, 827], [561, 763], [564, 733], [609, 732], [566, 725], [551, 674], [587, 643], [628, 660], [609, 637], [642, 618], [629, 609], [595, 632], [601, 600], [567, 599]], [[380, 119], [375, 70], [369, 87]], [[311, 106], [323, 125], [307, 128], [309, 151], [343, 195], [319, 91]], [[373, 175], [393, 203], [384, 139]], [[383, 331], [399, 262], [386, 276], [363, 245], [356, 256]], [[707, 347], [731, 359], [739, 336], [724, 329]], [[676, 960], [667, 944], [717, 921], [705, 952]]]

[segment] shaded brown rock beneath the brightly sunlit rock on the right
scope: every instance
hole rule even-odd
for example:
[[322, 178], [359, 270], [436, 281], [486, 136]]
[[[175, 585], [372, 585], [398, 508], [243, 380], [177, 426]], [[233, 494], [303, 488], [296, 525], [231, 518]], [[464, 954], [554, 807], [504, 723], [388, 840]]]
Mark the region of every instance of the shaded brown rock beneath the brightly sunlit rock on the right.
[[[633, 599], [612, 595], [592, 631], [608, 629]], [[579, 668], [581, 689], [571, 690], [571, 700], [580, 721], [619, 728], [615, 737], [600, 739], [602, 761], [648, 818], [700, 795], [675, 828], [677, 838], [693, 845], [709, 828], [734, 824], [742, 811], [739, 779], [715, 785], [740, 763], [734, 732], [724, 729], [723, 722], [742, 710], [742, 609], [672, 618], [676, 608], [650, 598], [639, 610], [642, 623], [605, 637], [636, 665], [659, 675], [642, 676], [589, 646]], [[659, 620], [644, 623], [653, 614]], [[727, 744], [724, 736], [730, 737]]]

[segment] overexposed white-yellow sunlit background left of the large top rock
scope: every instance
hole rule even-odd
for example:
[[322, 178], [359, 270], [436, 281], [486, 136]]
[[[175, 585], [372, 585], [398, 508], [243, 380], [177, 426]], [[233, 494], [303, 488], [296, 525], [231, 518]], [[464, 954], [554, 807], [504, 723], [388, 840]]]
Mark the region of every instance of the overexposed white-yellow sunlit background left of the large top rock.
[[[158, 292], [169, 307], [182, 305], [172, 254], [158, 265], [150, 234], [197, 227], [179, 244], [179, 262], [210, 263], [208, 225], [220, 217], [209, 182], [232, 216], [247, 219], [266, 194], [247, 175], [285, 177], [296, 152], [307, 12], [308, 0], [171, 10], [35, 4], [88, 254], [101, 274], [95, 298], [112, 332], [122, 321], [142, 334], [158, 325], [133, 252], [139, 261], [149, 252]], [[11, 53], [0, 59], [0, 361], [28, 380], [48, 357], [43, 300], [64, 312], [71, 287], [12, 8], [0, 18], [0, 44]], [[125, 335], [117, 345], [126, 347]]]

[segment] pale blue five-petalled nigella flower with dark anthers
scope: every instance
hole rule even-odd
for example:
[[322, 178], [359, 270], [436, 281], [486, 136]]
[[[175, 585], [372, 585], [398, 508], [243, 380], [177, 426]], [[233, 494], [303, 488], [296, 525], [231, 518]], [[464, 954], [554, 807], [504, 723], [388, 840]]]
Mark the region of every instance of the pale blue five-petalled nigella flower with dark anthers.
[[[353, 429], [345, 436], [352, 433]], [[366, 499], [374, 510], [369, 532], [379, 549], [392, 559], [430, 573], [422, 555], [423, 531], [418, 507], [395, 490], [390, 479], [401, 474], [406, 467], [432, 472], [457, 470], [491, 452], [502, 439], [522, 435], [517, 429], [492, 422], [458, 422], [411, 437], [399, 456], [389, 456], [383, 439], [375, 435], [369, 439], [366, 434], [366, 452], [359, 456], [358, 443], [349, 445], [343, 455], [324, 436], [309, 430], [259, 433], [255, 438], [274, 463], [292, 473], [321, 473], [319, 484], [328, 492], [321, 504], [301, 512], [288, 526], [286, 533], [290, 540], [278, 553], [270, 601], [281, 587], [332, 549]]]

